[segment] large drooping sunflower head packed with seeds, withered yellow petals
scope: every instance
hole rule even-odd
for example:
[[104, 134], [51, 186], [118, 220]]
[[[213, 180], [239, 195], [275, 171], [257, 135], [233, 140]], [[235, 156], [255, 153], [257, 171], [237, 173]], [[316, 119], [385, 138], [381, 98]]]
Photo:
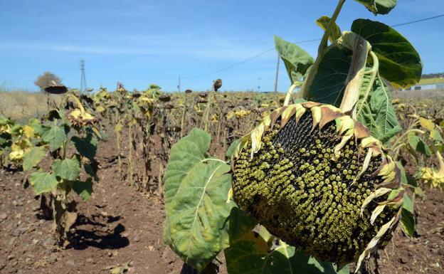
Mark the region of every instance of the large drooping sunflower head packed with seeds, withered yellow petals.
[[331, 105], [271, 112], [241, 139], [232, 172], [242, 209], [283, 241], [339, 265], [360, 265], [388, 241], [401, 214], [393, 159]]

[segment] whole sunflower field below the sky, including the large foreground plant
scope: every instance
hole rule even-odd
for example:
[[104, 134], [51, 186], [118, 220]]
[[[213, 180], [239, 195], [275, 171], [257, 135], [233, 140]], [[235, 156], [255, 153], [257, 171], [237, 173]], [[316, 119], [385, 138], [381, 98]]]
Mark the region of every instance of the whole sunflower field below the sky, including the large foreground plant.
[[443, 95], [344, 2], [287, 93], [3, 93], [0, 273], [443, 273]]

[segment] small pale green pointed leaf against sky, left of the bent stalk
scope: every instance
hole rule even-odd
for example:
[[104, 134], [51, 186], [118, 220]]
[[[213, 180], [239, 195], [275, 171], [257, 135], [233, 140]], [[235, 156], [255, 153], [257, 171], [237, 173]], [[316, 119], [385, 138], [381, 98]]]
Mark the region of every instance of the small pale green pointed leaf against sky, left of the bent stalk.
[[294, 84], [302, 80], [302, 77], [314, 62], [312, 56], [300, 46], [287, 42], [279, 36], [275, 36], [275, 48], [284, 61], [291, 83]]

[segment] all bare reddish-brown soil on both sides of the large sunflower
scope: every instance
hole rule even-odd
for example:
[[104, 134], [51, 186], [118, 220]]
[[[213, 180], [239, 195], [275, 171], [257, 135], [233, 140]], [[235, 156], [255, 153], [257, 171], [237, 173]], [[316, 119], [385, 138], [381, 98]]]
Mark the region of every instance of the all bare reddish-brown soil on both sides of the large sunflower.
[[[121, 181], [114, 158], [115, 144], [100, 144], [100, 182], [90, 202], [79, 201], [65, 249], [56, 247], [31, 187], [23, 187], [23, 172], [0, 171], [0, 273], [180, 273], [181, 259], [162, 243], [161, 199]], [[379, 253], [379, 273], [444, 273], [443, 192], [425, 191], [419, 209], [418, 238], [398, 229]]]

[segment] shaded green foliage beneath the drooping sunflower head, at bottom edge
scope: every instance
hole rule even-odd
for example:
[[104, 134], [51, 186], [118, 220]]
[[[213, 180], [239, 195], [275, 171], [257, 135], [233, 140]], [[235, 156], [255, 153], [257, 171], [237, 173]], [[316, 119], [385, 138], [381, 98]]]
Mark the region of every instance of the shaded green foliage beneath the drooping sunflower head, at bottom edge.
[[[225, 250], [230, 274], [327, 274], [337, 273], [332, 263], [319, 262], [303, 251], [280, 241], [272, 251], [265, 240], [250, 231]], [[349, 273], [348, 267], [339, 273]]]

